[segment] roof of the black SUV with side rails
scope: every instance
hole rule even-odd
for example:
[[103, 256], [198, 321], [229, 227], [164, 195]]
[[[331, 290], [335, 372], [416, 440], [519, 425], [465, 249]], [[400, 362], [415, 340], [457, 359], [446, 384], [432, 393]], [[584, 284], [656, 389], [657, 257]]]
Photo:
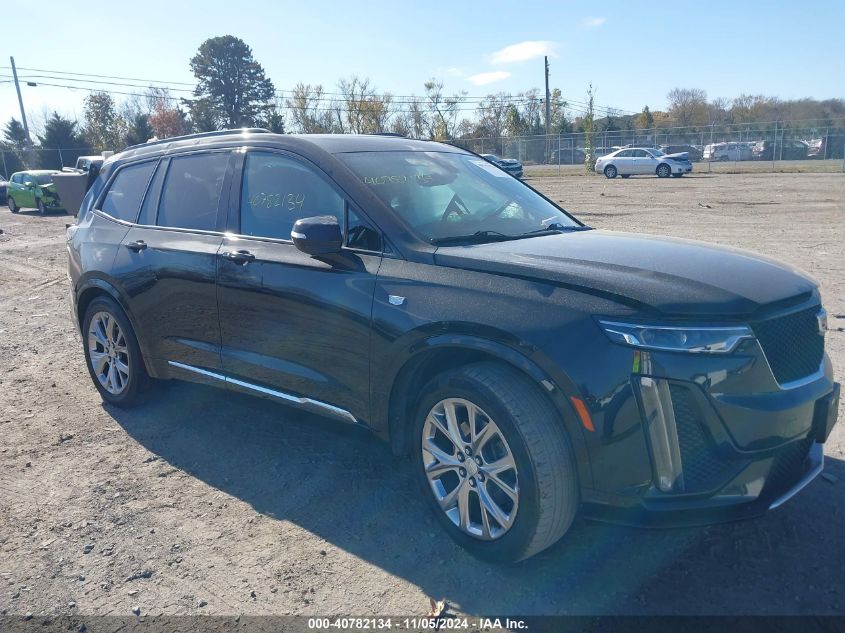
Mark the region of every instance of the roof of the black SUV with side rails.
[[274, 134], [266, 130], [221, 130], [162, 139], [127, 148], [115, 157], [140, 157], [167, 154], [189, 148], [231, 146], [233, 142], [249, 140], [251, 144], [287, 149], [322, 150], [329, 154], [344, 152], [435, 151], [463, 153], [458, 147], [432, 141], [419, 141], [402, 136], [380, 134]]

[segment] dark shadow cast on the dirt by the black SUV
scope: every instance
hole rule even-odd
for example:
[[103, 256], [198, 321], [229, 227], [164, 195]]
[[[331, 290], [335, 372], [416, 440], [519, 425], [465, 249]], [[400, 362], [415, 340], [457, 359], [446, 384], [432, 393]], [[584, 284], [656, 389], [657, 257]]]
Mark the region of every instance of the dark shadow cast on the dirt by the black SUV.
[[818, 479], [760, 519], [676, 530], [576, 519], [551, 549], [502, 567], [453, 545], [417, 493], [409, 464], [367, 432], [209, 387], [158, 389], [140, 409], [108, 409], [151, 452], [464, 612], [845, 611], [833, 564], [845, 560], [839, 460], [828, 458], [826, 466], [839, 483]]

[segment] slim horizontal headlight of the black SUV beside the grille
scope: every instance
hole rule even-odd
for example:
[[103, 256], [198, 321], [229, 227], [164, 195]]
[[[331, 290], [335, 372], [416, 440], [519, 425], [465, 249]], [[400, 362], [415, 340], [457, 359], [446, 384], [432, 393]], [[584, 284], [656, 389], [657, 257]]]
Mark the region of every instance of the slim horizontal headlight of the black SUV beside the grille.
[[747, 325], [648, 325], [599, 320], [614, 343], [669, 352], [729, 354], [740, 341], [754, 338]]

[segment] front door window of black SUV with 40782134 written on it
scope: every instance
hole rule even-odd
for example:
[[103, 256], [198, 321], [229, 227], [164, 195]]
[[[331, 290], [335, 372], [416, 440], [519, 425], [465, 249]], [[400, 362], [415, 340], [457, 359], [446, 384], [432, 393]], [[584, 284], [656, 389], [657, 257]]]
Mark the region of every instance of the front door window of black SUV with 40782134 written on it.
[[293, 223], [334, 215], [343, 223], [343, 198], [313, 168], [286, 156], [247, 154], [241, 190], [242, 235], [289, 240]]

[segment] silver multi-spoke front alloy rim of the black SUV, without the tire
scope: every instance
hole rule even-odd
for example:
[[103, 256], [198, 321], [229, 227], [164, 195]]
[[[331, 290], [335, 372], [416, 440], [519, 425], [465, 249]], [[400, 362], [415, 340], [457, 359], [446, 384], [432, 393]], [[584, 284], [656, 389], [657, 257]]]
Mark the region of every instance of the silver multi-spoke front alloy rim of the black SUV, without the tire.
[[440, 509], [462, 532], [504, 536], [519, 507], [516, 461], [502, 431], [478, 405], [441, 400], [422, 431], [425, 475]]

